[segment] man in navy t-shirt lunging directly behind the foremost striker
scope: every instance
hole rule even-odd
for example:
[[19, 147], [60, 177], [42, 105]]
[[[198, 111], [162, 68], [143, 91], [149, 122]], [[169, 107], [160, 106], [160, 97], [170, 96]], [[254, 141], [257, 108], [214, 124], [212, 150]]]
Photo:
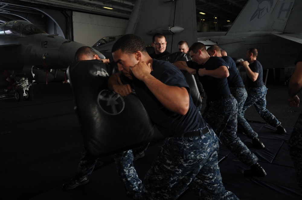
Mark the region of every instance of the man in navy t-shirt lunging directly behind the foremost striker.
[[207, 94], [207, 106], [202, 117], [213, 127], [226, 147], [240, 161], [251, 166], [250, 170], [245, 170], [246, 176], [265, 177], [266, 173], [257, 162], [258, 158], [236, 135], [238, 103], [231, 95], [227, 82], [229, 71], [226, 62], [222, 58], [210, 56], [201, 42], [195, 42], [189, 48], [189, 53], [192, 61], [177, 61], [174, 64], [198, 71], [199, 80]]

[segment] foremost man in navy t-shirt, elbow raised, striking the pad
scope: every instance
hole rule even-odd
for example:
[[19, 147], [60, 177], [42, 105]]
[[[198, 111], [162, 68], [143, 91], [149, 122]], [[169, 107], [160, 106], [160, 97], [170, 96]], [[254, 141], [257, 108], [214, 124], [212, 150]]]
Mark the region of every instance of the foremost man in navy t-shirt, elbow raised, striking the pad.
[[187, 187], [199, 198], [237, 199], [224, 189], [218, 138], [194, 106], [182, 72], [152, 59], [143, 39], [133, 34], [118, 39], [111, 51], [121, 73], [110, 77], [109, 89], [126, 96], [133, 88], [166, 137], [145, 176], [140, 199], [177, 199]]

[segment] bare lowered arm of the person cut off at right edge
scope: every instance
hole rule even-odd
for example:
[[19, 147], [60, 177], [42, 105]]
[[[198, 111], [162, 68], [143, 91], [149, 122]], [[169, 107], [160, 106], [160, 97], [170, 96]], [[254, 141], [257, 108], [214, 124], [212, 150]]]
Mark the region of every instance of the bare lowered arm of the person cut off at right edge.
[[300, 99], [297, 96], [302, 89], [302, 62], [297, 62], [296, 69], [288, 83], [288, 104], [298, 107]]

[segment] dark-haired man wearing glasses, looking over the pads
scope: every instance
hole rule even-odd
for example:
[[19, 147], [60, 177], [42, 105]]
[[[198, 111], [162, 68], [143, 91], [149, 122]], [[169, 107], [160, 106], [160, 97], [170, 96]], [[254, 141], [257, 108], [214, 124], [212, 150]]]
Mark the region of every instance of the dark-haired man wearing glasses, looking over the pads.
[[154, 48], [154, 52], [150, 54], [151, 58], [160, 58], [164, 55], [170, 54], [170, 52], [166, 51], [167, 41], [166, 37], [162, 33], [156, 33], [152, 37], [152, 46]]

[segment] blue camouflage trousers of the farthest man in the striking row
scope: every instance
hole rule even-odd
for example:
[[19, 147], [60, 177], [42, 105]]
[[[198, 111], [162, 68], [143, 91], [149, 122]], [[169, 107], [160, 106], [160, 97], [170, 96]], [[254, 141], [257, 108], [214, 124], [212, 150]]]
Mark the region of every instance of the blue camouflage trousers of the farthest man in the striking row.
[[281, 122], [273, 115], [270, 111], [266, 109], [266, 99], [265, 95], [267, 93], [267, 88], [265, 85], [258, 88], [250, 88], [248, 91], [248, 97], [243, 106], [244, 111], [251, 105], [254, 105], [259, 115], [272, 127], [277, 127]]

